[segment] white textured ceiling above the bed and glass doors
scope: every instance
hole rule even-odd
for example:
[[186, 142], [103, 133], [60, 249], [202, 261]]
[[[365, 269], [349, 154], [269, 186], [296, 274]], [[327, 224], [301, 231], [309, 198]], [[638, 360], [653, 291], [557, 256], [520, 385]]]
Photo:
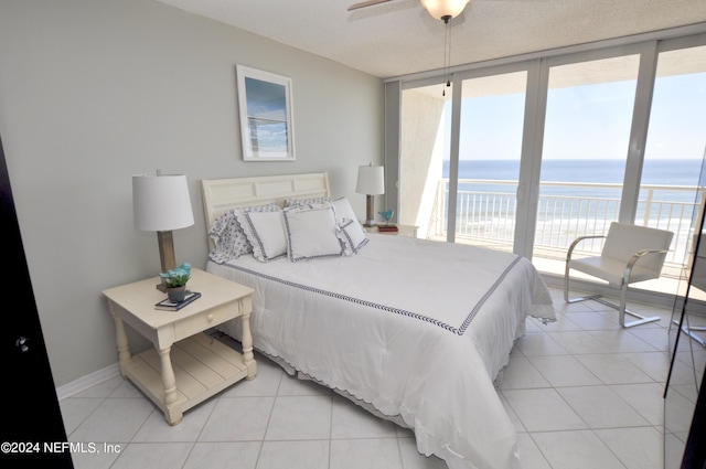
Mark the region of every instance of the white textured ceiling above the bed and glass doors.
[[[419, 0], [157, 0], [381, 78], [445, 67], [445, 24]], [[706, 0], [471, 0], [451, 65], [706, 22]]]

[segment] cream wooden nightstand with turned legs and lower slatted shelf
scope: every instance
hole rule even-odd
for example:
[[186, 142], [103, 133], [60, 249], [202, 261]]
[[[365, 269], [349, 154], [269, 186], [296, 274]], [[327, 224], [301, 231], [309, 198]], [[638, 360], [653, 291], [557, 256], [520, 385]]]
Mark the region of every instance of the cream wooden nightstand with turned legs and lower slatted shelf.
[[[189, 408], [243, 379], [255, 377], [249, 321], [254, 290], [193, 268], [188, 287], [201, 292], [201, 298], [179, 311], [162, 311], [154, 309], [165, 298], [156, 288], [159, 281], [153, 277], [103, 295], [115, 319], [120, 373], [162, 409], [170, 425], [176, 425]], [[238, 317], [243, 321], [242, 354], [203, 333]], [[125, 323], [154, 348], [132, 356]]]

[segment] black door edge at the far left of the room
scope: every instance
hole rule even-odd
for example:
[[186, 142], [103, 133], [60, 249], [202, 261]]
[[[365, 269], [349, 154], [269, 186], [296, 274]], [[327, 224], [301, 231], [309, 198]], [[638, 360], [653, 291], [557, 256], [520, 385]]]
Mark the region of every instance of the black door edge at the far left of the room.
[[0, 139], [3, 417], [0, 466], [73, 468]]

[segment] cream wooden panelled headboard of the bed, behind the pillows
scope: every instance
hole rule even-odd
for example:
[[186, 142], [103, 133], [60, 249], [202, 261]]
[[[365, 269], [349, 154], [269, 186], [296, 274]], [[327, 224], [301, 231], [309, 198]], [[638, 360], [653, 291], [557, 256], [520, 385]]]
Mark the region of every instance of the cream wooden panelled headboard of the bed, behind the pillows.
[[329, 196], [329, 175], [310, 174], [264, 175], [256, 178], [202, 179], [201, 195], [206, 217], [206, 233], [224, 212], [238, 206], [277, 203], [285, 199]]

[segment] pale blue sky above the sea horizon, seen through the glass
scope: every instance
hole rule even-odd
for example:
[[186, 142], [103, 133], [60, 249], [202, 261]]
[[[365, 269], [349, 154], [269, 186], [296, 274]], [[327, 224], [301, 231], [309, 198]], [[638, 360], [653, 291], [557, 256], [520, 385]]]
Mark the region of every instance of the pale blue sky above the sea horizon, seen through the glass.
[[[543, 158], [624, 159], [634, 90], [634, 81], [550, 89]], [[523, 113], [524, 94], [464, 99], [460, 158], [518, 159]], [[657, 78], [646, 158], [702, 159], [705, 149], [706, 73]]]

